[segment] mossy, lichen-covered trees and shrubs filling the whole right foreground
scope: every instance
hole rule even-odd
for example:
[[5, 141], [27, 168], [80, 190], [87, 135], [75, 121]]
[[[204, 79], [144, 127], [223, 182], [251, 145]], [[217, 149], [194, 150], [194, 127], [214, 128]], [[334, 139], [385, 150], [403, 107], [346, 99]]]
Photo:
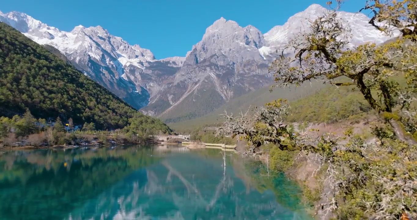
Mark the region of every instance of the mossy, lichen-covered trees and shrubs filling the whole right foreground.
[[[272, 63], [271, 72], [281, 87], [323, 80], [358, 90], [362, 97], [350, 99], [351, 104], [358, 104], [353, 108], [359, 111], [342, 115], [365, 112], [364, 107], [375, 112], [379, 116], [372, 122], [376, 141], [366, 141], [352, 130], [343, 135], [297, 133], [288, 124], [290, 107], [283, 99], [246, 114], [224, 114], [218, 133], [246, 140], [250, 146], [247, 153], [251, 155], [265, 152], [265, 145], [275, 146], [272, 150], [267, 148], [275, 169], [286, 168], [276, 164], [274, 152], [278, 150], [308, 155], [309, 163], [318, 168], [325, 166], [323, 184], [328, 190], [322, 190], [319, 197], [315, 192], [306, 193], [316, 202], [324, 199], [324, 203], [316, 203], [318, 215], [336, 219], [416, 218], [416, 5], [409, 0], [368, 1], [365, 9], [374, 13], [369, 23], [387, 34], [394, 27], [401, 36], [384, 45], [365, 44], [346, 50], [350, 30], [348, 23], [336, 14], [342, 2], [336, 3], [335, 8], [311, 21], [311, 32], [289, 41], [286, 49], [295, 51], [295, 56], [279, 57]], [[332, 2], [328, 4], [331, 6]], [[391, 28], [378, 26], [381, 22]], [[345, 82], [342, 77], [350, 81]], [[400, 86], [393, 77], [403, 77], [406, 85]], [[342, 109], [343, 105], [336, 107]]]

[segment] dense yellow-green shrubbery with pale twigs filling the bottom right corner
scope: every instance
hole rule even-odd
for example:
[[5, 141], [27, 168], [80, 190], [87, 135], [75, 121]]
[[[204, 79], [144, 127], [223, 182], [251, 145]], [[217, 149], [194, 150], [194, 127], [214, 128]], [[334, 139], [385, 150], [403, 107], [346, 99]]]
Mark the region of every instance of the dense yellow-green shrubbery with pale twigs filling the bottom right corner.
[[412, 187], [417, 178], [413, 162], [417, 145], [389, 138], [382, 138], [379, 146], [367, 145], [362, 137], [353, 135], [346, 146], [347, 150], [328, 155], [337, 173], [336, 190], [344, 200], [338, 210], [340, 216], [355, 213], [358, 219], [394, 219], [404, 211], [417, 212], [417, 191]]

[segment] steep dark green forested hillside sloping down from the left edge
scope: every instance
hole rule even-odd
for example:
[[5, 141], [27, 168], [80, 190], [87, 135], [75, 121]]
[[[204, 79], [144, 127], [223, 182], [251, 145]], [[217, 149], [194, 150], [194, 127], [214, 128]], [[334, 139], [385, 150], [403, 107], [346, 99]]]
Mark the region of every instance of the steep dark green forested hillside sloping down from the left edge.
[[[72, 118], [75, 125], [93, 122], [96, 129], [117, 129], [139, 117], [170, 129], [160, 120], [143, 115], [62, 58], [0, 23], [0, 116]], [[145, 125], [143, 125], [145, 126]]]

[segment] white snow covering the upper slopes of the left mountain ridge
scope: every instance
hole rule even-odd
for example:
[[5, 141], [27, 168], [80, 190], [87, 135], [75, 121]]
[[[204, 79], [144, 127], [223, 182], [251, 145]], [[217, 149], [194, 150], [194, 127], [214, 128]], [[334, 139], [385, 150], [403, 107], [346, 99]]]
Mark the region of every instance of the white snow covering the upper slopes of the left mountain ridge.
[[[35, 20], [34, 18], [26, 15], [25, 13], [10, 12], [2, 13], [0, 12], [0, 21], [5, 22], [22, 32], [24, 35], [34, 40], [35, 42], [41, 45], [51, 45], [64, 55], [71, 54], [73, 52], [85, 51], [88, 55], [93, 57], [95, 60], [100, 61], [103, 51], [106, 50], [110, 53], [118, 53], [120, 57], [118, 60], [124, 65], [135, 65], [139, 68], [145, 68], [138, 62], [152, 62], [155, 61], [154, 56], [151, 51], [139, 47], [139, 45], [131, 46], [121, 37], [115, 37], [109, 35], [106, 30], [101, 26], [85, 28], [83, 25], [76, 26], [70, 32], [61, 31], [58, 28], [48, 26]], [[28, 28], [25, 27], [23, 23], [26, 23]], [[107, 42], [106, 46], [101, 45], [100, 48], [97, 46], [94, 40], [98, 41], [97, 36], [103, 37], [107, 35], [116, 41], [116, 45], [120, 45], [126, 51], [131, 51], [133, 54], [130, 57], [136, 57], [134, 59], [129, 59], [126, 54], [123, 54], [118, 51], [115, 46], [112, 45], [112, 42]], [[48, 37], [49, 36], [49, 37]], [[94, 40], [91, 40], [94, 39]], [[96, 39], [97, 38], [97, 39]], [[111, 62], [111, 61], [108, 61]], [[111, 63], [106, 63], [111, 65]]]

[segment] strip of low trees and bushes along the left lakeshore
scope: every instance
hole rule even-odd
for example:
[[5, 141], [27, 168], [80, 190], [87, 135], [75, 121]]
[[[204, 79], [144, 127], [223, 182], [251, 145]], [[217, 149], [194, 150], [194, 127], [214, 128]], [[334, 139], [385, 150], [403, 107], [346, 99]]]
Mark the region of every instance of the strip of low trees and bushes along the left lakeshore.
[[35, 147], [90, 143], [94, 139], [98, 139], [103, 144], [111, 143], [110, 140], [118, 141], [118, 143], [136, 144], [149, 140], [149, 135], [154, 130], [160, 133], [171, 133], [171, 130], [161, 120], [142, 116], [138, 113], [136, 117], [132, 118], [132, 125], [126, 127], [130, 139], [126, 138], [121, 130], [92, 130], [94, 129], [93, 122], [85, 122], [83, 130], [70, 130], [67, 133], [59, 117], [52, 127], [46, 123], [45, 119], [36, 120], [29, 112], [26, 112], [22, 117], [15, 115], [12, 119], [0, 117], [0, 146], [14, 146], [20, 140], [22, 140], [19, 142], [20, 146], [30, 145]]

